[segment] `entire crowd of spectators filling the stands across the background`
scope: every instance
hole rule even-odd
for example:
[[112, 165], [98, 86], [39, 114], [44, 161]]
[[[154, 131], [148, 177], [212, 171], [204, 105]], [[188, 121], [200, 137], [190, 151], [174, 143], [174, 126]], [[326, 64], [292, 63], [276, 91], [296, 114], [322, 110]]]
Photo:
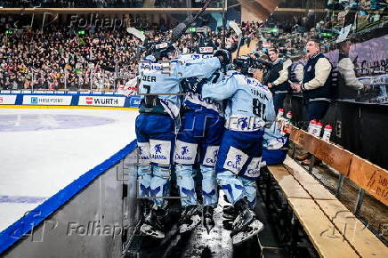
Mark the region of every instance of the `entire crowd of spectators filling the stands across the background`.
[[[276, 47], [283, 55], [297, 59], [303, 56], [308, 38], [320, 36], [325, 45], [333, 41], [344, 26], [362, 22], [364, 12], [372, 17], [368, 19], [375, 20], [376, 15], [382, 16], [386, 10], [381, 1], [329, 2], [327, 7], [331, 9], [327, 9], [326, 17], [319, 17], [312, 10], [304, 17], [286, 21], [272, 15], [264, 23], [243, 22], [243, 34], [248, 39], [258, 39], [257, 52]], [[355, 3], [357, 12], [353, 12]], [[150, 42], [169, 35], [166, 28], [146, 30]], [[85, 35], [78, 35], [73, 28], [52, 27], [44, 28], [44, 33], [39, 29], [20, 29], [0, 36], [0, 89], [114, 89], [117, 84], [125, 84], [125, 80], [115, 79], [117, 68], [128, 71], [131, 77], [135, 75], [141, 45], [139, 39], [125, 30], [104, 28], [86, 29]], [[182, 53], [195, 52], [202, 37], [204, 35], [198, 33], [186, 34], [176, 46]], [[225, 37], [224, 47], [236, 49], [238, 37], [230, 28]], [[223, 47], [221, 28], [210, 31], [206, 38], [211, 38], [215, 47]]]

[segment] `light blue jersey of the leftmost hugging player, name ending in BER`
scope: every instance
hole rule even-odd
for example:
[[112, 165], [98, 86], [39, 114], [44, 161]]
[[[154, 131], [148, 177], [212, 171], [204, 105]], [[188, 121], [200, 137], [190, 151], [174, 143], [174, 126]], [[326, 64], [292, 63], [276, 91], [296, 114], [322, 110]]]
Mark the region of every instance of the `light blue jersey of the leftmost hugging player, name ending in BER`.
[[[180, 82], [183, 78], [211, 77], [221, 68], [217, 57], [202, 60], [171, 60], [154, 62], [153, 56], [139, 61], [139, 93], [141, 101], [144, 94], [157, 96], [160, 104], [173, 118], [178, 117], [182, 93]], [[156, 98], [154, 99], [156, 100]]]

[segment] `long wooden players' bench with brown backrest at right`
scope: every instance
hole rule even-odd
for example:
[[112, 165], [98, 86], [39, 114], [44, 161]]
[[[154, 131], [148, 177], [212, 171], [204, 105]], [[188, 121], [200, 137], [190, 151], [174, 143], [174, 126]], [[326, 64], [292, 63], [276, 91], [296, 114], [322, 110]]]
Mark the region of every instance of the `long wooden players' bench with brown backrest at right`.
[[[387, 205], [386, 170], [295, 127], [290, 139]], [[321, 257], [388, 257], [388, 248], [291, 157], [268, 171]]]

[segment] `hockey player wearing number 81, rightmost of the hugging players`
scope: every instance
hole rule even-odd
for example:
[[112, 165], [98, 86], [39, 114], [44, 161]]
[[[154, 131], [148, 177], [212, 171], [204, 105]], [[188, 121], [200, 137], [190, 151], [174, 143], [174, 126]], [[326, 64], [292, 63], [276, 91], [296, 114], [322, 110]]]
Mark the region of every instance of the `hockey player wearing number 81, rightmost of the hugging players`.
[[270, 90], [251, 77], [250, 59], [241, 57], [235, 64], [240, 72], [231, 72], [220, 83], [203, 85], [201, 93], [205, 98], [229, 101], [215, 170], [218, 184], [238, 213], [230, 233], [236, 245], [263, 230], [250, 209], [247, 190], [259, 175], [263, 128], [273, 122], [275, 110]]

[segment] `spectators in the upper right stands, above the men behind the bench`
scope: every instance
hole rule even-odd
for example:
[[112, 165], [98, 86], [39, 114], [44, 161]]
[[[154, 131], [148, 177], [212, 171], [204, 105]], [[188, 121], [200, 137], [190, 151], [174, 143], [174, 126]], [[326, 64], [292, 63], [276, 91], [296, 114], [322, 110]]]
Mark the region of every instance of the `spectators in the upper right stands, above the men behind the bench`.
[[[281, 19], [281, 16], [271, 15], [263, 24], [263, 28], [276, 28], [271, 32], [262, 30], [263, 39], [259, 44], [267, 43], [277, 47], [287, 56], [303, 55], [303, 48], [311, 37], [319, 37], [324, 51], [335, 47], [335, 39], [345, 27], [350, 27], [350, 33], [365, 28], [369, 23], [386, 19], [388, 4], [384, 0], [328, 0], [325, 13], [316, 13], [312, 9], [303, 17]], [[263, 45], [259, 45], [262, 48]]]

